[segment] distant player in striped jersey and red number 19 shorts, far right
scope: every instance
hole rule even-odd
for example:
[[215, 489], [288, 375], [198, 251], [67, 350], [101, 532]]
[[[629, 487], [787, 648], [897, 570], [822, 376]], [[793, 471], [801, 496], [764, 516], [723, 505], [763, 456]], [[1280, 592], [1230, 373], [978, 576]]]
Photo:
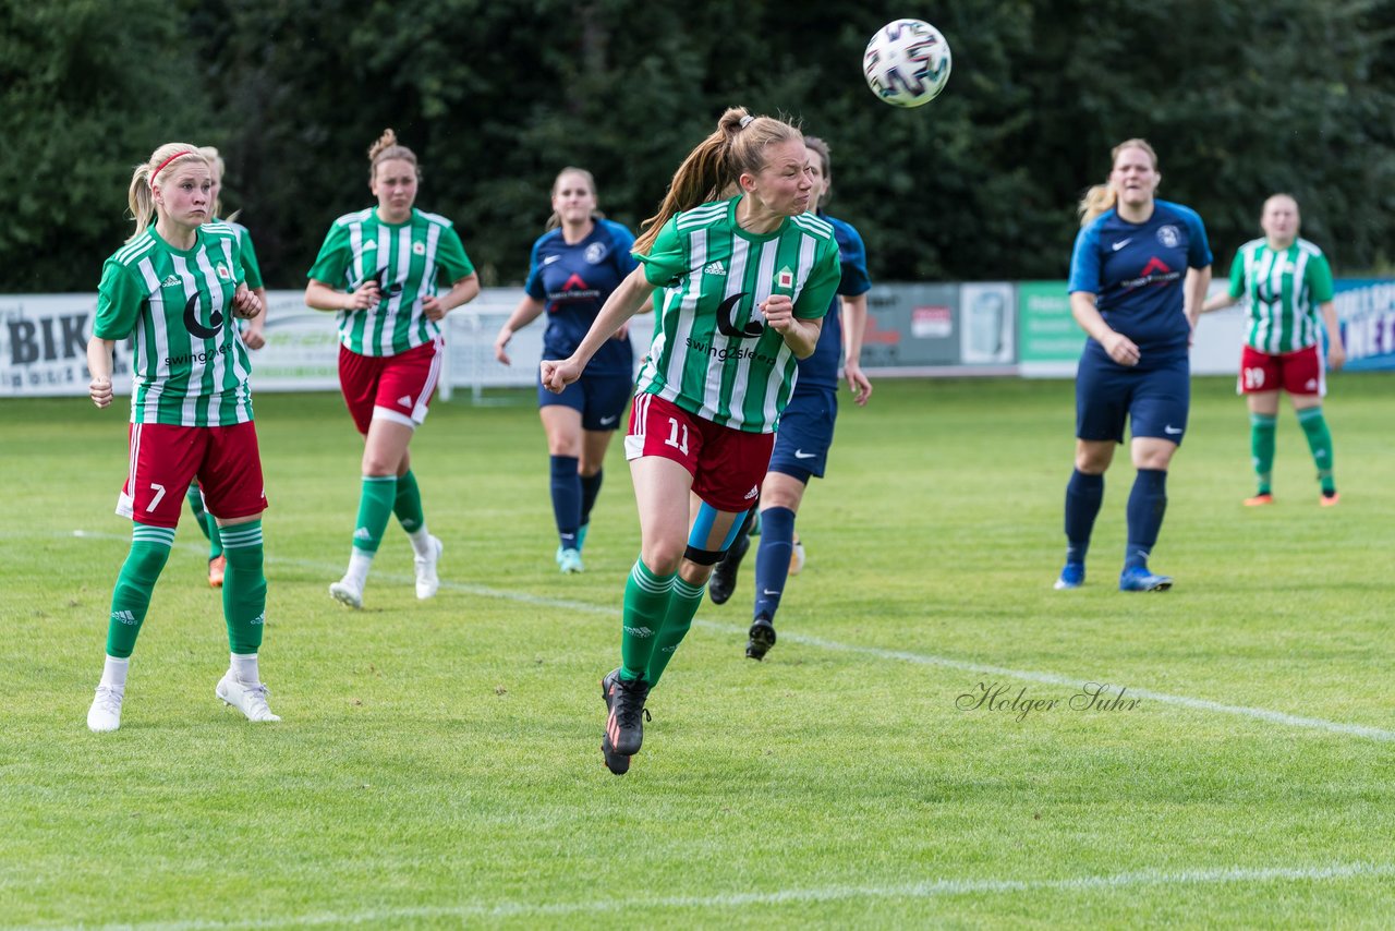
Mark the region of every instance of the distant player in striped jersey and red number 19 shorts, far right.
[[1299, 204], [1288, 194], [1264, 201], [1260, 228], [1264, 239], [1240, 247], [1230, 264], [1230, 289], [1202, 306], [1202, 313], [1229, 307], [1240, 299], [1250, 306], [1250, 328], [1240, 350], [1236, 391], [1250, 406], [1250, 452], [1258, 490], [1246, 505], [1274, 504], [1274, 434], [1279, 419], [1279, 391], [1288, 391], [1307, 437], [1317, 479], [1318, 504], [1338, 501], [1332, 477], [1332, 434], [1322, 417], [1327, 377], [1318, 341], [1318, 315], [1327, 327], [1327, 364], [1346, 362], [1342, 329], [1332, 303], [1332, 269], [1322, 250], [1299, 237]]

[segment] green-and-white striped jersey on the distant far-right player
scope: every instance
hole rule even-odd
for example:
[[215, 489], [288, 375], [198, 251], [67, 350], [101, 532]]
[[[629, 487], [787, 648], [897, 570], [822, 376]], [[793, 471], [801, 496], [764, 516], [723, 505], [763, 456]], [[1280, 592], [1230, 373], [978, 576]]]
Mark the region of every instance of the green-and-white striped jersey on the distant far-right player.
[[1253, 349], [1271, 356], [1297, 352], [1318, 341], [1318, 306], [1332, 300], [1332, 269], [1306, 239], [1279, 251], [1256, 239], [1235, 254], [1230, 297], [1249, 301], [1244, 341]]

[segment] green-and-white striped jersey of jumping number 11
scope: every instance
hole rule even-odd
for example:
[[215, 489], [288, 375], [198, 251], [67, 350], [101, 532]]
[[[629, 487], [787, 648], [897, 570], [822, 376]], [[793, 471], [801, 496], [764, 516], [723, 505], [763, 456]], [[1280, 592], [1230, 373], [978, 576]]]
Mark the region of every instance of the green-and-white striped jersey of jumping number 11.
[[737, 223], [739, 200], [678, 214], [647, 255], [636, 253], [644, 278], [663, 289], [638, 391], [725, 427], [773, 433], [798, 360], [757, 306], [790, 295], [795, 317], [823, 317], [841, 276], [838, 243], [813, 214], [749, 233]]

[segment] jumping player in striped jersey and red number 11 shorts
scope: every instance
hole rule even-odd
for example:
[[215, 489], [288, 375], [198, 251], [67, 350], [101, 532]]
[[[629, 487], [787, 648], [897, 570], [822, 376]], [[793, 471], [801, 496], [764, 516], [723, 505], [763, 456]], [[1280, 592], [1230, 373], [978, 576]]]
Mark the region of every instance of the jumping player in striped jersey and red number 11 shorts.
[[625, 437], [640, 553], [625, 586], [621, 666], [601, 681], [601, 752], [617, 775], [639, 752], [649, 690], [760, 493], [795, 362], [813, 353], [838, 285], [833, 228], [805, 215], [812, 190], [798, 128], [728, 109], [646, 221], [640, 267], [575, 353], [543, 362], [544, 387], [561, 392], [663, 289]]

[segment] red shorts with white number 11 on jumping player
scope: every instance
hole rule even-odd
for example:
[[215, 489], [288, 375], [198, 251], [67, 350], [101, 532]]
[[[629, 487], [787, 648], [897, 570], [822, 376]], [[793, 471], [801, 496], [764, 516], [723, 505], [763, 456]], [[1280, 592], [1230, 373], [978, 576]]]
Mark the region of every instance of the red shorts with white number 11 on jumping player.
[[745, 433], [688, 413], [657, 395], [635, 395], [625, 458], [663, 456], [693, 476], [698, 497], [728, 514], [749, 511], [776, 445], [773, 433]]

